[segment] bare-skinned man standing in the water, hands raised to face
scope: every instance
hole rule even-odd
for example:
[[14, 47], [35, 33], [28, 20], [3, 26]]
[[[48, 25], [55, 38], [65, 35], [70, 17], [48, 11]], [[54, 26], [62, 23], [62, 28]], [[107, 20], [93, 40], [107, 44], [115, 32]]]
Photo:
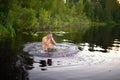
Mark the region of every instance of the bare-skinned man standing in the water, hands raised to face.
[[49, 32], [47, 36], [42, 38], [42, 48], [44, 49], [52, 49], [53, 44], [56, 44], [55, 40], [53, 39], [52, 33]]

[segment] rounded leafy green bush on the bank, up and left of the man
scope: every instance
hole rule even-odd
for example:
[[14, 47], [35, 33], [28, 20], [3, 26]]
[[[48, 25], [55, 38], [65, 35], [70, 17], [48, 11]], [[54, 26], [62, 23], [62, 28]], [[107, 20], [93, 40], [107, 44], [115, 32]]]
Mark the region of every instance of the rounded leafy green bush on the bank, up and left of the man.
[[31, 29], [37, 24], [37, 18], [33, 9], [20, 9], [16, 26], [19, 30]]

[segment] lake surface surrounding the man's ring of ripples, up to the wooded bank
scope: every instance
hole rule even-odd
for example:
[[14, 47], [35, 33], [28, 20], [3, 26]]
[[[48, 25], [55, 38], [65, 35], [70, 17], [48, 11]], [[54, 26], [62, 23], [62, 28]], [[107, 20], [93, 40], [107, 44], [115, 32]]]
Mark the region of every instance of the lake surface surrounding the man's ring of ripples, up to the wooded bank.
[[[41, 57], [23, 51], [25, 44], [41, 42], [49, 30], [57, 43], [74, 44], [79, 52], [65, 57]], [[119, 26], [81, 25], [49, 30], [31, 33], [32, 36], [24, 32], [16, 39], [0, 41], [1, 80], [120, 79]]]

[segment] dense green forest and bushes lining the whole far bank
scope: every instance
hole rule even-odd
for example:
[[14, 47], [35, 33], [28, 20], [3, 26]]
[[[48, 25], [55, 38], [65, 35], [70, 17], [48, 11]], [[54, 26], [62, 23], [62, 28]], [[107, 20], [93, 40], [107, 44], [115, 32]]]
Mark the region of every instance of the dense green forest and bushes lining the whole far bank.
[[120, 23], [117, 0], [0, 0], [0, 36], [70, 24]]

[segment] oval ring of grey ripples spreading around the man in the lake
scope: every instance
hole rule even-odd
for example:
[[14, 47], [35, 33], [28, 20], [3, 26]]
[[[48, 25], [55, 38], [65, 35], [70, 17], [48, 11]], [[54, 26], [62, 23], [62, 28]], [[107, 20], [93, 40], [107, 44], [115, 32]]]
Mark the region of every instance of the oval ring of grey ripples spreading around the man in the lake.
[[79, 49], [74, 44], [57, 43], [52, 50], [48, 51], [41, 47], [41, 42], [34, 42], [25, 44], [23, 51], [39, 57], [67, 57], [77, 54]]

